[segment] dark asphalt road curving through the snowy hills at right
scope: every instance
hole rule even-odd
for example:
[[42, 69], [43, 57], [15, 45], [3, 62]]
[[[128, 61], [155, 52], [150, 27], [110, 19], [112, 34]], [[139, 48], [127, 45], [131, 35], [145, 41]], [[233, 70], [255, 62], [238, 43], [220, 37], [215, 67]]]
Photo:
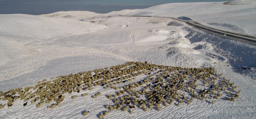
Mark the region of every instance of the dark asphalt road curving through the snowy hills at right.
[[[119, 16], [128, 16], [128, 15], [119, 15]], [[131, 15], [129, 15], [129, 16], [131, 16]], [[109, 16], [109, 17], [111, 17], [111, 16]], [[203, 24], [201, 24], [199, 22], [196, 22], [196, 21], [188, 21], [188, 20], [179, 19], [179, 18], [175, 18], [175, 17], [161, 17], [161, 16], [134, 16], [134, 17], [171, 18], [171, 19], [175, 19], [175, 20], [178, 20], [178, 21], [185, 22], [190, 26], [196, 27], [200, 30], [204, 30], [204, 31], [212, 33], [212, 34], [216, 34], [216, 35], [219, 35], [219, 36], [228, 37], [228, 38], [231, 38], [231, 39], [234, 39], [234, 40], [239, 40], [239, 41], [243, 41], [243, 42], [246, 42], [246, 43], [256, 45], [256, 37], [247, 36], [247, 35], [243, 35], [243, 34], [238, 34], [238, 33], [230, 32], [230, 31], [225, 31], [225, 30], [209, 27], [209, 26], [203, 25]]]

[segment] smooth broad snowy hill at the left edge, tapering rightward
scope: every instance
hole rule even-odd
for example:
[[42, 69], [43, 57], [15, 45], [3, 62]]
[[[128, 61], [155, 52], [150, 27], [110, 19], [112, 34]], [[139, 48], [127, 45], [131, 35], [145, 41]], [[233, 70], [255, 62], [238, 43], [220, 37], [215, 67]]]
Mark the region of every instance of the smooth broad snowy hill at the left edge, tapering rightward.
[[37, 39], [83, 34], [106, 28], [104, 25], [90, 22], [26, 14], [1, 14], [0, 21], [1, 36]]

